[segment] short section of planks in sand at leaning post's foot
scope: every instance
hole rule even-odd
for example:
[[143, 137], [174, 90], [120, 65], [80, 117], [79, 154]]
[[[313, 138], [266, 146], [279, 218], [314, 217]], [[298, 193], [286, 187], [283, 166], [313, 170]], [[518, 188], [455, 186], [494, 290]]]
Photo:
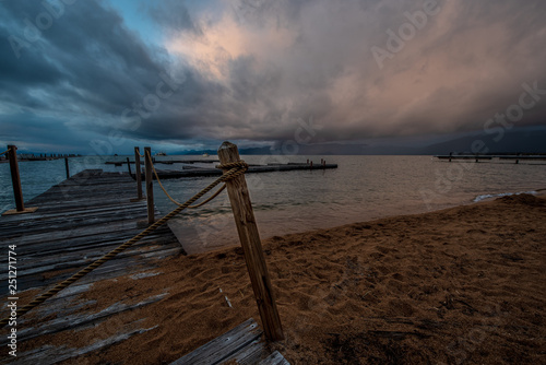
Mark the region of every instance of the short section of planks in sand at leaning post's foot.
[[170, 365], [222, 364], [234, 358], [248, 345], [254, 344], [254, 341], [260, 339], [262, 333], [258, 323], [250, 318], [198, 350], [170, 363]]

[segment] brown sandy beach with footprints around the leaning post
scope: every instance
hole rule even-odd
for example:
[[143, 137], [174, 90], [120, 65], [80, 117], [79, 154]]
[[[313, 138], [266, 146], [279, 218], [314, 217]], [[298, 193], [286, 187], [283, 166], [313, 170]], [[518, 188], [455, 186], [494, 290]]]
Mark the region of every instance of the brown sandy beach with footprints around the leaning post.
[[[264, 240], [286, 335], [273, 346], [292, 364], [544, 364], [545, 222], [546, 199], [520, 195]], [[84, 309], [163, 301], [21, 351], [85, 346], [142, 318], [153, 329], [63, 364], [168, 364], [259, 320], [238, 247], [152, 273], [95, 285]]]

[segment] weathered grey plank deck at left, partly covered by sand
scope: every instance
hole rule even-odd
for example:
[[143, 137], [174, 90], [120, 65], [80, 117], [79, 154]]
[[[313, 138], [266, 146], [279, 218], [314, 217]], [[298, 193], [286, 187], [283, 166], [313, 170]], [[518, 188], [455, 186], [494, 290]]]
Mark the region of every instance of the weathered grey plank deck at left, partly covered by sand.
[[[25, 296], [27, 290], [45, 292], [51, 284], [69, 278], [145, 228], [146, 202], [131, 201], [135, 195], [135, 184], [128, 174], [85, 170], [28, 201], [38, 208], [36, 212], [0, 217], [2, 247], [16, 245], [16, 295]], [[183, 250], [170, 229], [167, 226], [158, 228], [46, 301], [28, 316], [19, 318], [17, 342], [21, 344], [37, 337], [85, 328], [116, 314], [161, 301], [168, 293], [133, 305], [117, 303], [99, 313], [87, 313], [81, 310], [88, 303], [82, 303], [80, 295], [103, 280], [130, 274], [139, 280], [139, 271], [154, 269], [161, 259], [180, 254]], [[0, 281], [8, 283], [8, 264], [0, 271]], [[2, 297], [8, 297], [7, 292], [8, 284], [0, 286]], [[19, 305], [27, 301], [21, 301]], [[8, 314], [7, 304], [4, 301], [2, 318]], [[52, 364], [99, 351], [102, 346], [145, 331], [136, 328], [121, 327], [114, 338], [83, 349], [47, 345], [17, 353], [16, 361], [10, 364]], [[7, 348], [7, 337], [2, 337], [0, 345]]]

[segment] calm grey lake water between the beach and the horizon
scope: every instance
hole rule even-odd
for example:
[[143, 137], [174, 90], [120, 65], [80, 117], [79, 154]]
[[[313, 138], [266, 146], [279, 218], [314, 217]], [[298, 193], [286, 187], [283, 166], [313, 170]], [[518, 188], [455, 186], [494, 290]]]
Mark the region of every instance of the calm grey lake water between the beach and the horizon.
[[[118, 157], [70, 158], [71, 174], [85, 168], [126, 172], [127, 165], [105, 165]], [[201, 156], [167, 156], [190, 160]], [[209, 157], [210, 160], [215, 156]], [[247, 163], [320, 163], [321, 156], [242, 156]], [[397, 214], [420, 213], [472, 203], [503, 193], [536, 192], [546, 188], [546, 165], [513, 162], [442, 162], [430, 156], [324, 156], [339, 168], [249, 174], [247, 181], [262, 238], [316, 228], [333, 227]], [[200, 166], [199, 164], [194, 166]], [[203, 164], [211, 167], [211, 164]], [[158, 169], [178, 169], [180, 164]], [[25, 200], [64, 179], [64, 161], [21, 162]], [[165, 180], [164, 186], [183, 202], [214, 177]], [[0, 164], [0, 211], [12, 209], [9, 164]], [[176, 208], [154, 184], [156, 205], [163, 214]], [[237, 244], [229, 201], [223, 193], [197, 210], [177, 216], [170, 227], [190, 252]]]

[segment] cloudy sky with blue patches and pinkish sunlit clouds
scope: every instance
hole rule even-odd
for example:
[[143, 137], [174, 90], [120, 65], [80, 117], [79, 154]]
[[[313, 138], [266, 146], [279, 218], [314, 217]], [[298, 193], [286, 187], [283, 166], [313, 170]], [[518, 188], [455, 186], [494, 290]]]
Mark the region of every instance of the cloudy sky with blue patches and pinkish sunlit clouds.
[[0, 145], [544, 131], [545, 19], [544, 0], [0, 0]]

